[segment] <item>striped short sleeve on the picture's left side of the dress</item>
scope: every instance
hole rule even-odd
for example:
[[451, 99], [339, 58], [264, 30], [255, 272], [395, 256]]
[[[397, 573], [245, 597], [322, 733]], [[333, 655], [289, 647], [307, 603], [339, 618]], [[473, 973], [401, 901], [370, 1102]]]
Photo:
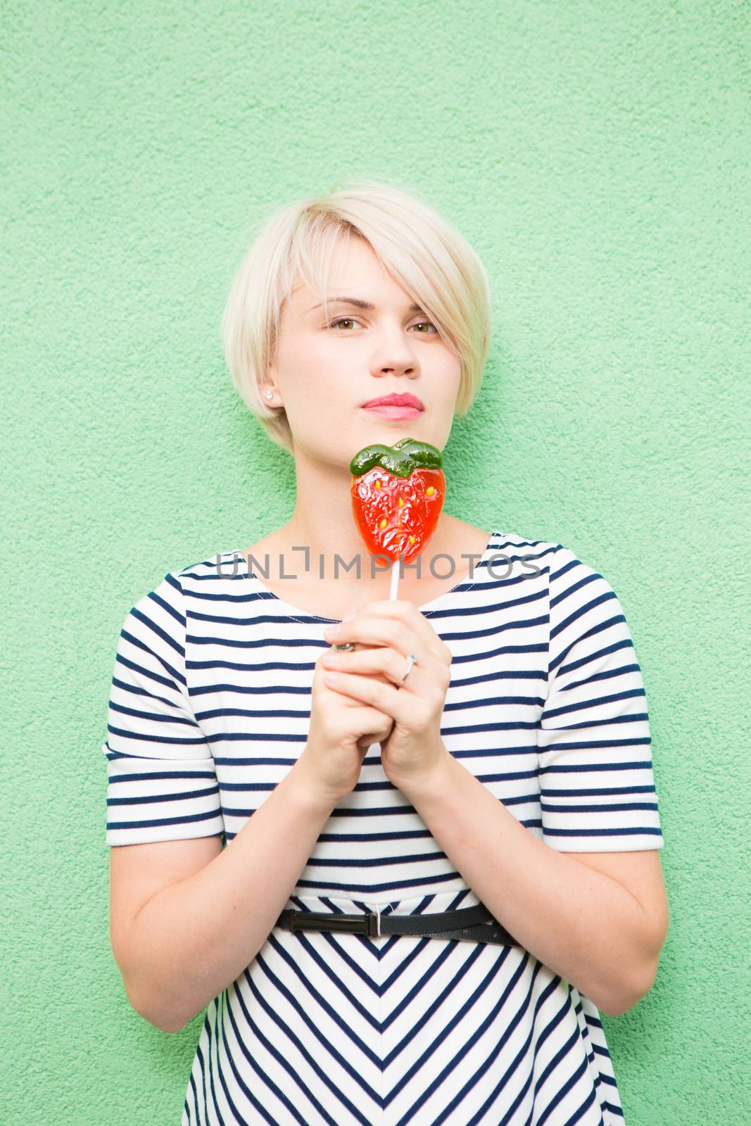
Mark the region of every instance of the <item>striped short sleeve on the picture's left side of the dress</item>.
[[186, 611], [170, 572], [128, 611], [117, 642], [107, 738], [107, 844], [224, 831], [214, 758], [185, 672]]

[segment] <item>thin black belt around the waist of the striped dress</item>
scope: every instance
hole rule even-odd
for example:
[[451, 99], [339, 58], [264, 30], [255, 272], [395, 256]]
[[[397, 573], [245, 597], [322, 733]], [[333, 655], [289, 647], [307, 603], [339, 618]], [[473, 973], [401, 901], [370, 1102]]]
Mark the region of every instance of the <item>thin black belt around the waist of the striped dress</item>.
[[382, 935], [426, 935], [429, 938], [456, 938], [466, 942], [497, 942], [499, 946], [519, 946], [519, 942], [501, 927], [488, 908], [477, 903], [461, 911], [441, 911], [435, 914], [379, 914], [366, 911], [363, 914], [319, 913], [295, 911], [286, 908], [276, 921], [293, 933], [301, 930], [351, 931], [379, 938]]

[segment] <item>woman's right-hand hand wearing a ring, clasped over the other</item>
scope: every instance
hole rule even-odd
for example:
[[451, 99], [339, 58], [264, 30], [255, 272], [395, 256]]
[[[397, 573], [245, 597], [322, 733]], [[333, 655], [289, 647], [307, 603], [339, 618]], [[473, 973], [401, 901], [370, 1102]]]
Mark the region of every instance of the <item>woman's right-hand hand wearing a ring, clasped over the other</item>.
[[[452, 652], [413, 602], [401, 599], [366, 602], [324, 637], [332, 644], [373, 646], [321, 658], [325, 683], [338, 692], [392, 716], [394, 726], [382, 742], [386, 777], [402, 788], [420, 785], [448, 754], [440, 738], [440, 718], [450, 683]], [[401, 688], [410, 653], [415, 662]], [[374, 679], [378, 673], [384, 680]]]

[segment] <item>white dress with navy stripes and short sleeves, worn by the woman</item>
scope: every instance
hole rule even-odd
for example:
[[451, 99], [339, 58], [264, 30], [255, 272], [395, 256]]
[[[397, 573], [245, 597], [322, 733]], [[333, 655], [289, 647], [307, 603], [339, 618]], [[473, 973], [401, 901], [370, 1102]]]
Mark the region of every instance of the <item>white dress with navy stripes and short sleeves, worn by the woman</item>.
[[[561, 544], [493, 531], [472, 581], [420, 610], [453, 654], [441, 738], [509, 813], [560, 851], [662, 847], [642, 673], [602, 575]], [[274, 595], [241, 549], [144, 595], [117, 643], [101, 748], [107, 844], [229, 846], [304, 748], [332, 620]], [[379, 750], [286, 906], [479, 902]], [[206, 1010], [181, 1126], [623, 1120], [598, 1009], [529, 951], [275, 927]]]

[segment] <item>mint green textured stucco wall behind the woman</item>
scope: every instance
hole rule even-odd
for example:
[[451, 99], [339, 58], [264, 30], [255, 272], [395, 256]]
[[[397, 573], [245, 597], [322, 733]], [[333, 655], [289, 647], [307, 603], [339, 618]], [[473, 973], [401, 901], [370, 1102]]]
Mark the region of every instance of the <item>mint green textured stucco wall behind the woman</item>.
[[447, 510], [575, 549], [634, 635], [671, 930], [651, 993], [604, 1018], [626, 1123], [746, 1123], [748, 6], [2, 21], [2, 1126], [180, 1119], [200, 1018], [137, 1017], [108, 942], [115, 645], [167, 570], [287, 518], [218, 319], [267, 209], [357, 173], [422, 193], [493, 285]]

